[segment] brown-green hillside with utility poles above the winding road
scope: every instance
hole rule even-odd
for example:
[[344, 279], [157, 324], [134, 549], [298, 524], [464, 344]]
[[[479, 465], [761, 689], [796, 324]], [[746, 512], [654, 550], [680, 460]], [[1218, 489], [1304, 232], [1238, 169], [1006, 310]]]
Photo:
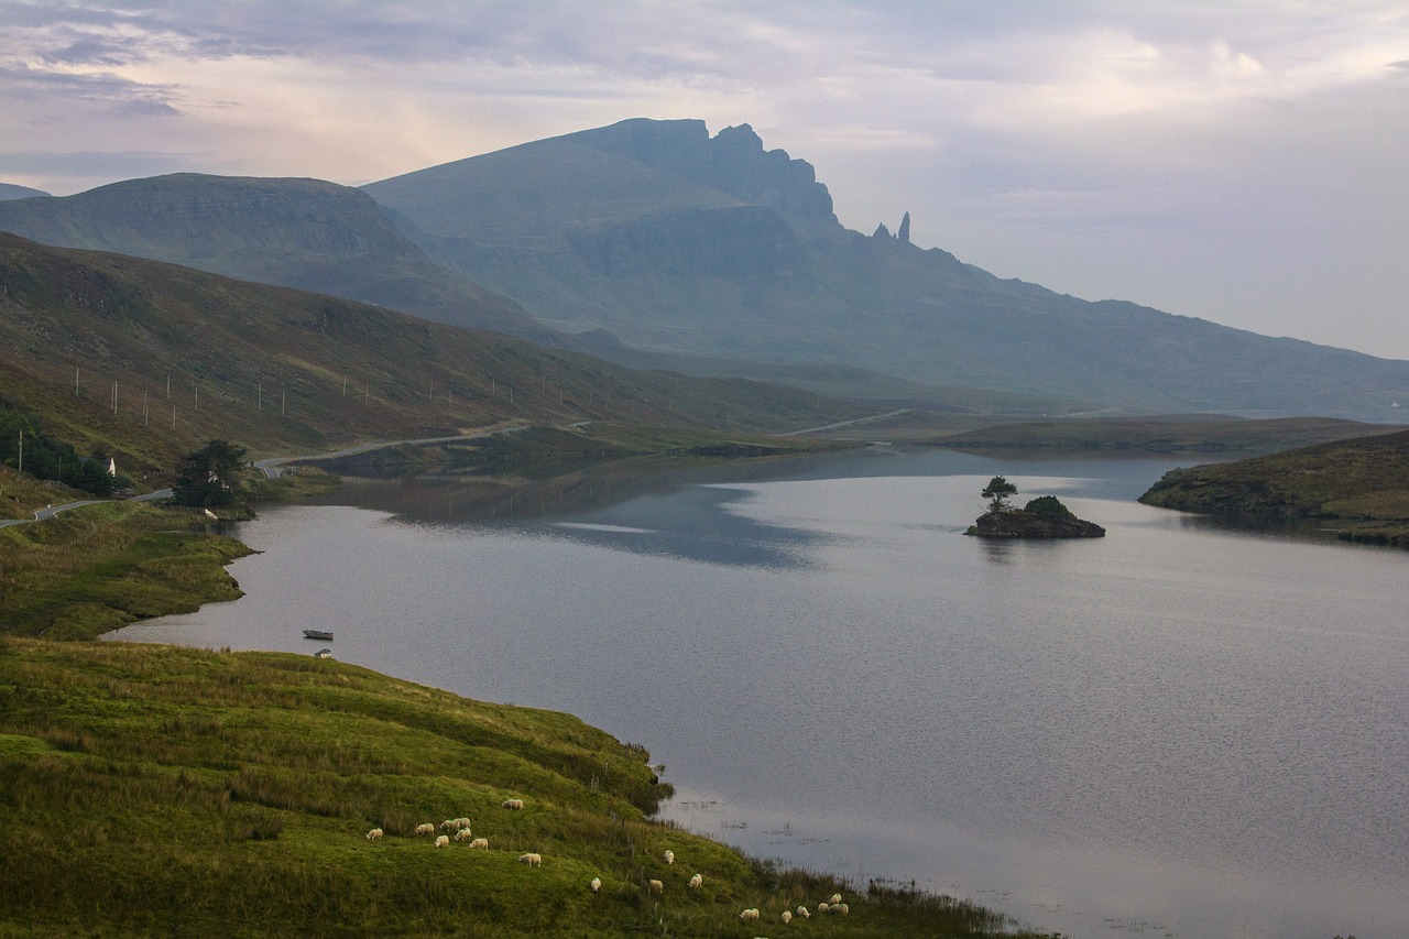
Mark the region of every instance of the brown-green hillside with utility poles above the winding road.
[[211, 437], [259, 457], [507, 422], [793, 430], [867, 413], [7, 234], [0, 409], [85, 451], [103, 447], [132, 474]]

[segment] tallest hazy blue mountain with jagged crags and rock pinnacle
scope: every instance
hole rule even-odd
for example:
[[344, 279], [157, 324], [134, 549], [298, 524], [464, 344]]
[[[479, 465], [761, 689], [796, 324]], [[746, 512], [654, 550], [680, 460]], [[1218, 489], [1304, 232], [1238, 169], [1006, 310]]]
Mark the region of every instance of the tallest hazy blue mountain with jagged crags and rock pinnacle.
[[1409, 398], [1409, 362], [999, 279], [912, 244], [907, 219], [847, 230], [813, 168], [747, 124], [630, 120], [364, 189], [438, 262], [647, 351], [1144, 412], [1385, 419]]

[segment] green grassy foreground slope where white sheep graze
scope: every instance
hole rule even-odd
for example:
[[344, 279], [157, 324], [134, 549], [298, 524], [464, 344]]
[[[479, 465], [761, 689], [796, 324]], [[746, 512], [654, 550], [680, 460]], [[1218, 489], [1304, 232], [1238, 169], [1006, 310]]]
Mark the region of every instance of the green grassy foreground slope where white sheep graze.
[[[747, 938], [833, 890], [850, 915], [803, 929], [998, 925], [751, 863], [645, 821], [661, 794], [644, 750], [564, 713], [333, 660], [0, 637], [0, 935]], [[492, 850], [413, 835], [458, 816]]]

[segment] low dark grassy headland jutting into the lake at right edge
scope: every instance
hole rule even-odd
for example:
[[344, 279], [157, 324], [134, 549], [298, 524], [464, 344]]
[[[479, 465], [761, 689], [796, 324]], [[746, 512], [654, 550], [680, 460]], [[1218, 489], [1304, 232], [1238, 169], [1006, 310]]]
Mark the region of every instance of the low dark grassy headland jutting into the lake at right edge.
[[1409, 547], [1409, 431], [1172, 470], [1140, 501], [1186, 512], [1370, 520], [1346, 537]]

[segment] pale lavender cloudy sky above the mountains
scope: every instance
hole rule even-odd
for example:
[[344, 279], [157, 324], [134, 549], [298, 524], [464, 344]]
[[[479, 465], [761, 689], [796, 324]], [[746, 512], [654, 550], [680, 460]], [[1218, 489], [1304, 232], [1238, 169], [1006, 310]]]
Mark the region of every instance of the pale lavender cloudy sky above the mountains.
[[0, 0], [0, 182], [61, 196], [630, 117], [999, 276], [1409, 360], [1409, 0]]

